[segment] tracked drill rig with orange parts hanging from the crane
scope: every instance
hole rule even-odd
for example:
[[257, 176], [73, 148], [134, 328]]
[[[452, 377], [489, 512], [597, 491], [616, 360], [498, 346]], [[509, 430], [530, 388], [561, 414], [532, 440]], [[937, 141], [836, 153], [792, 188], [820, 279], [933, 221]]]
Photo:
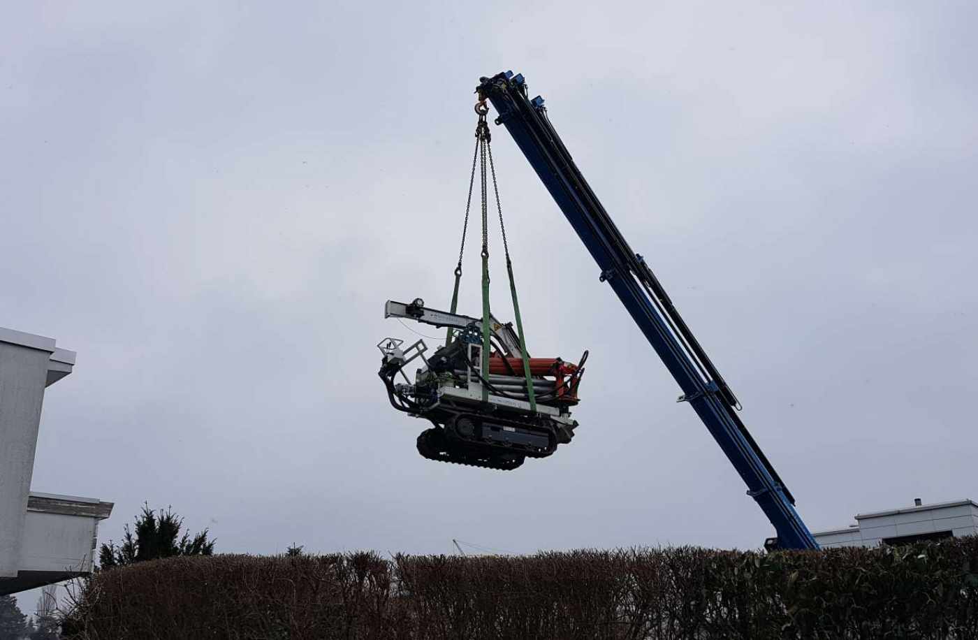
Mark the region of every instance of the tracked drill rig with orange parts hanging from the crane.
[[[418, 452], [425, 458], [509, 471], [526, 458], [553, 454], [558, 444], [574, 436], [577, 421], [570, 409], [578, 402], [586, 351], [577, 364], [560, 358], [524, 359], [511, 324], [492, 316], [487, 348], [480, 318], [429, 309], [420, 298], [408, 304], [390, 300], [384, 316], [457, 330], [430, 357], [425, 357], [423, 340], [408, 346], [392, 338], [378, 343], [380, 379], [391, 405], [432, 423], [418, 436]], [[479, 363], [490, 349], [486, 375]], [[412, 362], [422, 365], [414, 380], [406, 373]]]

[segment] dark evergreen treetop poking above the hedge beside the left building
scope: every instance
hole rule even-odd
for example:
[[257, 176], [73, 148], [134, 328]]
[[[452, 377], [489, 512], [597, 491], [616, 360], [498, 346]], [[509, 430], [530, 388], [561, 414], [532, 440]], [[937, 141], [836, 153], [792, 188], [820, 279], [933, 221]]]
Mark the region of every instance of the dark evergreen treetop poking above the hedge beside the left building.
[[195, 535], [184, 532], [183, 518], [174, 514], [170, 507], [157, 514], [149, 504], [143, 505], [143, 513], [136, 517], [133, 529], [125, 526], [122, 542], [109, 541], [99, 549], [101, 569], [123, 567], [156, 558], [171, 556], [210, 556], [214, 553], [214, 540], [207, 539], [207, 529]]

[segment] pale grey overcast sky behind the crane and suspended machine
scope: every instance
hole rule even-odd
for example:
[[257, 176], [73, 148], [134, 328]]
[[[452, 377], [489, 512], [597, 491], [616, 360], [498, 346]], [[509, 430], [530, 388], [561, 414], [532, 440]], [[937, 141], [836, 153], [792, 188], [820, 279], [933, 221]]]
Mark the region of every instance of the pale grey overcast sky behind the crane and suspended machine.
[[797, 5], [8, 6], [0, 326], [78, 352], [32, 488], [114, 502], [102, 541], [172, 505], [221, 552], [760, 546], [772, 526], [502, 128], [528, 348], [591, 349], [581, 426], [501, 473], [422, 459], [387, 404], [375, 344], [417, 336], [383, 302], [448, 305], [472, 92], [513, 69], [810, 528], [978, 498], [978, 7]]

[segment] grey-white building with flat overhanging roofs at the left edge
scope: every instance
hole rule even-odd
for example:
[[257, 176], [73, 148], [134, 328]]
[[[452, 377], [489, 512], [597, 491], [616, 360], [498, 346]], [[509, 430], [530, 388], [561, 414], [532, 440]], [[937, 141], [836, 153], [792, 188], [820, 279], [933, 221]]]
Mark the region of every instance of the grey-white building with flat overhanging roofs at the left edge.
[[0, 595], [92, 571], [111, 502], [30, 490], [44, 389], [74, 367], [51, 338], [0, 327]]

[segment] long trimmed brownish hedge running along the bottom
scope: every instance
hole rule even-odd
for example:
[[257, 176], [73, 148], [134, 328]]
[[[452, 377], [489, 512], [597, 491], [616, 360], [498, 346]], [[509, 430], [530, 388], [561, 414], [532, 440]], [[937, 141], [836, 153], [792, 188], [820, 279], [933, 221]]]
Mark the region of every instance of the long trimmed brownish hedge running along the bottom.
[[85, 640], [978, 638], [978, 537], [880, 549], [214, 556], [101, 571]]

